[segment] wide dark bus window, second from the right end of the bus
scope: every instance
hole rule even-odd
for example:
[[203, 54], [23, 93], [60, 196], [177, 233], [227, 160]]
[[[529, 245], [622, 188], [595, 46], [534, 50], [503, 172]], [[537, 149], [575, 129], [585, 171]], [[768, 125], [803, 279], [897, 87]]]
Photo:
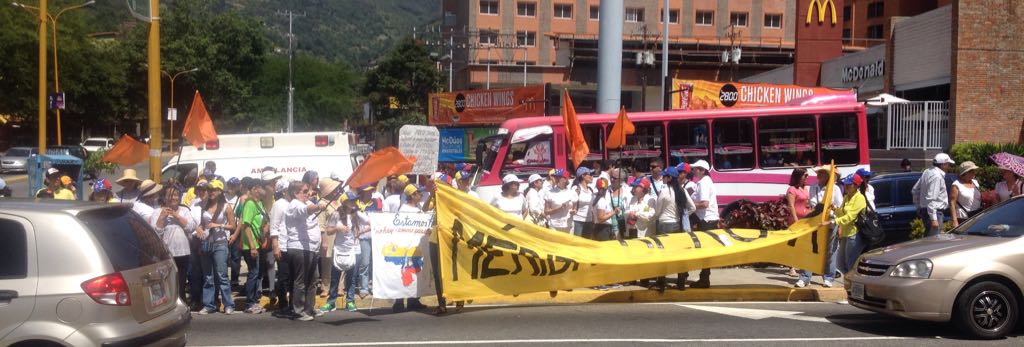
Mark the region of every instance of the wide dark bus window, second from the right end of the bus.
[[816, 142], [814, 116], [758, 119], [761, 168], [815, 166], [818, 160]]

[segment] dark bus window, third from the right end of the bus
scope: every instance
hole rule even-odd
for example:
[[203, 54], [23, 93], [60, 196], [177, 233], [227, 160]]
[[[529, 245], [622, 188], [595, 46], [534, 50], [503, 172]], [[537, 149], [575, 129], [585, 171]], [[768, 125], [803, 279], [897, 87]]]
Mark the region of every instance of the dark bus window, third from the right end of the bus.
[[754, 169], [754, 121], [751, 119], [715, 120], [712, 124], [716, 170]]

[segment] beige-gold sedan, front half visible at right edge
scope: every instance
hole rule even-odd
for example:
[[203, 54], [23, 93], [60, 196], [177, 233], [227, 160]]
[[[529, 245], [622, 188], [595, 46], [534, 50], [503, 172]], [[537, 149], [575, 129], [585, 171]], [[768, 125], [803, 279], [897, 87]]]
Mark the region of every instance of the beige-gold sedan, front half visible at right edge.
[[1024, 198], [949, 233], [868, 252], [845, 276], [853, 306], [996, 339], [1017, 329], [1024, 303]]

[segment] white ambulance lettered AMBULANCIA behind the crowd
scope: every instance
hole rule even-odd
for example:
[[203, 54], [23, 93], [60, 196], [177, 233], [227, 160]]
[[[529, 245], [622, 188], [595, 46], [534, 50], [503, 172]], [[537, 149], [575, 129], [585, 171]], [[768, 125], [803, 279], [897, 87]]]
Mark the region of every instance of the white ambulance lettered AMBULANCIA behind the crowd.
[[285, 177], [299, 180], [309, 170], [321, 177], [337, 175], [347, 180], [352, 170], [369, 155], [369, 147], [355, 145], [355, 136], [346, 132], [298, 132], [218, 135], [202, 147], [184, 145], [161, 171], [161, 180], [179, 182], [189, 172], [202, 175], [207, 162], [215, 162], [216, 174], [259, 178], [265, 167], [273, 167]]

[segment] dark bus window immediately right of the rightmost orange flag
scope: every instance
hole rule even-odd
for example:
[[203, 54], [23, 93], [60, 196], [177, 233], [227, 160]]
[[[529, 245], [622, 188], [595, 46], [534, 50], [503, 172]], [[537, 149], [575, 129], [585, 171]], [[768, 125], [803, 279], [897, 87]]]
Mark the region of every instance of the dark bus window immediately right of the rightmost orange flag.
[[626, 145], [621, 149], [608, 150], [608, 159], [617, 161], [622, 167], [647, 171], [650, 161], [665, 158], [665, 124], [662, 122], [637, 122], [636, 132], [626, 136]]

